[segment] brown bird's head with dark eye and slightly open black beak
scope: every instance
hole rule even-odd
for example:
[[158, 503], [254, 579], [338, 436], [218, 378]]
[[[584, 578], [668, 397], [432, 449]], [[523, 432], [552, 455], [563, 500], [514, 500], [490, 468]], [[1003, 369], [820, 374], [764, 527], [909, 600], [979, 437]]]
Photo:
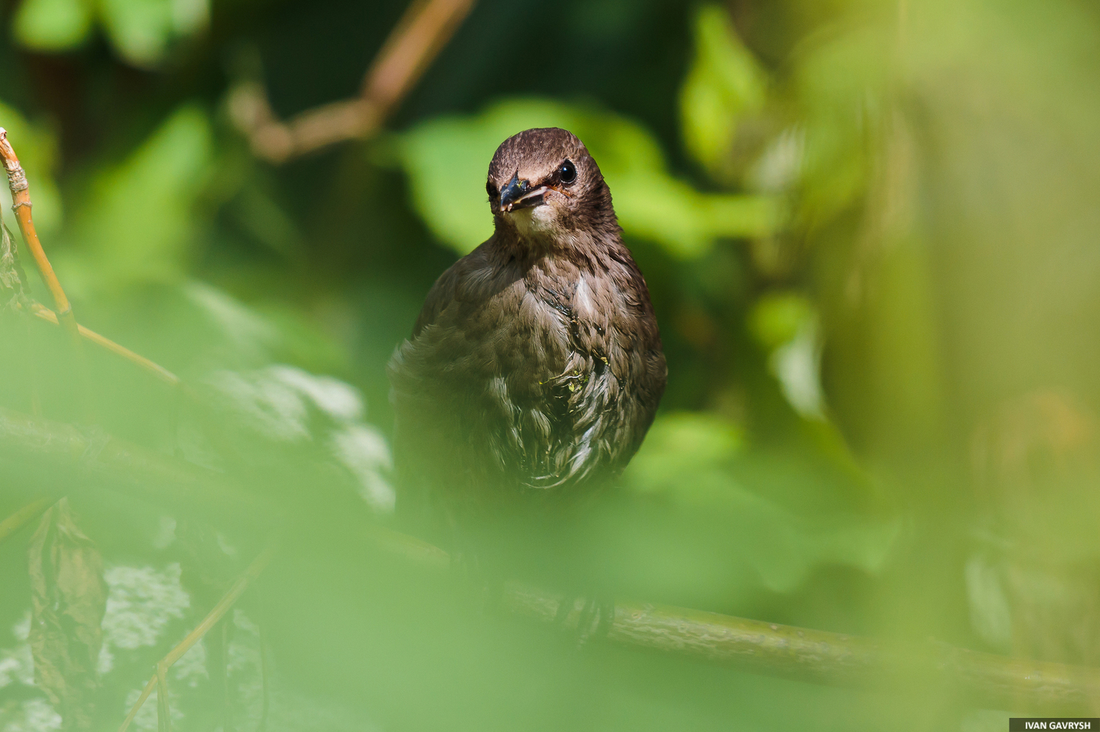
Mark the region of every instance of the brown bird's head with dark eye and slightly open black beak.
[[485, 190], [497, 229], [515, 230], [521, 241], [617, 231], [600, 166], [568, 130], [537, 127], [505, 140], [488, 166]]

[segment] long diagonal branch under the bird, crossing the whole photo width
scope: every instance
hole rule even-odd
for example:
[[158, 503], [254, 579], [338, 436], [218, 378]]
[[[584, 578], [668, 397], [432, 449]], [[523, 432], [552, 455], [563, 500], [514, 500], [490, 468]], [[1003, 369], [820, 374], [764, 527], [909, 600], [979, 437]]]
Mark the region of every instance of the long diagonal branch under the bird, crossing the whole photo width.
[[[68, 425], [0, 409], [0, 456], [56, 464], [75, 461], [86, 437]], [[165, 499], [177, 493], [186, 503], [217, 507], [222, 513], [257, 512], [257, 499], [223, 476], [111, 440], [95, 462], [80, 462], [86, 475], [110, 475], [112, 485], [141, 486]], [[268, 509], [268, 515], [274, 511]], [[450, 557], [418, 539], [381, 526], [364, 525], [359, 535], [378, 548], [430, 569], [446, 569]], [[558, 595], [509, 585], [506, 607], [520, 615], [556, 622]], [[581, 610], [563, 613], [575, 626]], [[734, 618], [688, 608], [616, 601], [608, 642], [642, 647], [752, 673], [813, 684], [897, 690], [935, 688], [957, 694], [960, 701], [1046, 714], [1096, 716], [1100, 668], [1011, 658], [957, 648], [944, 643], [894, 645], [867, 637]], [[176, 658], [178, 656], [172, 656]]]

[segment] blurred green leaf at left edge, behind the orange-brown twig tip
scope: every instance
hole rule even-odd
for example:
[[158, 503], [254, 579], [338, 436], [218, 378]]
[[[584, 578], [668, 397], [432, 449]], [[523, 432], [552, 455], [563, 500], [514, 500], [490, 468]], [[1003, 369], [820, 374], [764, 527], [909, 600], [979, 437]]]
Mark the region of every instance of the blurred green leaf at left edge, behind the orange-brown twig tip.
[[[62, 222], [62, 197], [53, 175], [57, 138], [48, 127], [31, 124], [3, 102], [0, 102], [0, 127], [8, 131], [8, 140], [26, 171], [34, 202], [34, 226], [41, 236], [50, 239]], [[11, 211], [11, 191], [7, 185], [0, 186], [0, 206], [3, 206], [4, 214]], [[8, 221], [10, 223], [11, 219]]]

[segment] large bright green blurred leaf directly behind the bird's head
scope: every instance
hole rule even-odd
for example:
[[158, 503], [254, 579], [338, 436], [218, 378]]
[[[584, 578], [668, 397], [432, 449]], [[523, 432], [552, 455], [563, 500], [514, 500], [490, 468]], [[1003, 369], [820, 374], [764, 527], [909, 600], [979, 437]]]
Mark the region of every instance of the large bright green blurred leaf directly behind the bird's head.
[[624, 231], [673, 256], [698, 256], [716, 237], [768, 234], [778, 223], [773, 199], [702, 193], [670, 176], [657, 141], [631, 120], [591, 107], [512, 99], [477, 117], [426, 122], [400, 138], [417, 211], [441, 241], [465, 254], [493, 233], [484, 184], [493, 153], [510, 135], [546, 126], [584, 141]]

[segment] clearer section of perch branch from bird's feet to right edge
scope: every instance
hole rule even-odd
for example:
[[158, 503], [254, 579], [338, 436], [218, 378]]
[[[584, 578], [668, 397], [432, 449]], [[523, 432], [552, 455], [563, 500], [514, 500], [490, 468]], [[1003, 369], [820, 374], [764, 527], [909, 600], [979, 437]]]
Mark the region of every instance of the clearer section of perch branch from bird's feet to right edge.
[[[559, 598], [510, 585], [509, 609], [547, 623]], [[575, 626], [583, 599], [562, 613]], [[1092, 716], [1100, 709], [1100, 668], [1009, 658], [930, 641], [893, 645], [867, 637], [641, 602], [615, 603], [608, 641], [736, 666], [823, 686], [939, 688], [992, 709]]]

